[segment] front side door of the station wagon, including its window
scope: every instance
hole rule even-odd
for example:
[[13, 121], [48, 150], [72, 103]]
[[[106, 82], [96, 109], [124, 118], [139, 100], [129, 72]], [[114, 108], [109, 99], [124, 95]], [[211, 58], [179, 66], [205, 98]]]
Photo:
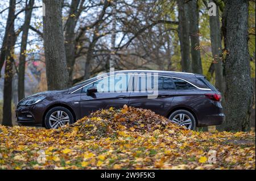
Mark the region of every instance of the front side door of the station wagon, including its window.
[[[129, 74], [114, 74], [84, 86], [80, 98], [81, 117], [96, 110], [121, 108], [124, 104], [128, 105], [130, 91], [127, 87], [130, 77]], [[88, 95], [87, 89], [92, 86], [97, 87], [97, 92]]]

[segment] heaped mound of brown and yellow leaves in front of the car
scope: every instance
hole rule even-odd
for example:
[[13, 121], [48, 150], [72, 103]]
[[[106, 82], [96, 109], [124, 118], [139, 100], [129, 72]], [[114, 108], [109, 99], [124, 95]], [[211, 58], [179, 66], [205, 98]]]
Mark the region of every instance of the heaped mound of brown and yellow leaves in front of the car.
[[155, 130], [175, 130], [176, 133], [184, 131], [185, 128], [172, 124], [166, 117], [156, 115], [155, 112], [141, 108], [123, 106], [122, 109], [99, 110], [88, 117], [85, 116], [73, 125], [53, 132], [53, 136], [64, 134], [68, 137], [75, 136], [76, 139], [89, 140], [102, 137], [117, 137], [118, 134], [126, 132], [148, 133]]

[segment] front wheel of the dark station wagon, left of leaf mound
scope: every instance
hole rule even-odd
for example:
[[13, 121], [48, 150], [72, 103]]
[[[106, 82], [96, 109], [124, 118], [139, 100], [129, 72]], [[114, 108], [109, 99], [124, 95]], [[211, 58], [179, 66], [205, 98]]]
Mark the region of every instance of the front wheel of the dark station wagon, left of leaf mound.
[[47, 129], [57, 129], [59, 127], [63, 127], [65, 124], [74, 123], [73, 115], [71, 111], [69, 111], [65, 107], [53, 107], [46, 113], [46, 117], [44, 119], [44, 124]]

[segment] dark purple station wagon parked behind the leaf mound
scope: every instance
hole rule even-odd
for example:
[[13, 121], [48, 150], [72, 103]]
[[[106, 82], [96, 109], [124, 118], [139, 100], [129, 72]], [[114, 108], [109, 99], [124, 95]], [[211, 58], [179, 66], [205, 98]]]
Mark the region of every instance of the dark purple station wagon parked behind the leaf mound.
[[124, 70], [98, 75], [67, 90], [39, 92], [20, 100], [21, 125], [59, 128], [90, 112], [123, 105], [146, 108], [188, 129], [224, 121], [221, 94], [200, 74]]

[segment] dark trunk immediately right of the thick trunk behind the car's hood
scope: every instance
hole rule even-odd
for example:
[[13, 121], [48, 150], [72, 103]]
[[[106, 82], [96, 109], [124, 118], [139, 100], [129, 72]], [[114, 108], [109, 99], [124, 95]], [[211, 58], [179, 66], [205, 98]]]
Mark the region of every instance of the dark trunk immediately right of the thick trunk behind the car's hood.
[[67, 58], [69, 85], [72, 84], [73, 66], [75, 64], [75, 27], [79, 19], [84, 0], [72, 0], [67, 23], [65, 24], [65, 53]]

